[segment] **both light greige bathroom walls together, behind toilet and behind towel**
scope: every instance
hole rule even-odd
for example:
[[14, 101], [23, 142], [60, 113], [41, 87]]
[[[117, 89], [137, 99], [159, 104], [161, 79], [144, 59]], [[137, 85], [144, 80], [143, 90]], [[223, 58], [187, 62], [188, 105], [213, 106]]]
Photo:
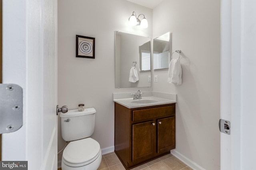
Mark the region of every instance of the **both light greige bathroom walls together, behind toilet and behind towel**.
[[[145, 14], [147, 29], [128, 25], [133, 11]], [[207, 170], [220, 169], [220, 0], [165, 0], [153, 11], [126, 0], [58, 1], [58, 104], [96, 109], [92, 138], [102, 149], [114, 145], [112, 93], [138, 90], [114, 88], [116, 30], [152, 38], [172, 33], [172, 51], [182, 51], [182, 85], [168, 84], [163, 69], [154, 71], [158, 83], [140, 90], [178, 94], [176, 151]], [[76, 34], [96, 38], [95, 59], [75, 57]], [[60, 150], [60, 119], [58, 134]]]

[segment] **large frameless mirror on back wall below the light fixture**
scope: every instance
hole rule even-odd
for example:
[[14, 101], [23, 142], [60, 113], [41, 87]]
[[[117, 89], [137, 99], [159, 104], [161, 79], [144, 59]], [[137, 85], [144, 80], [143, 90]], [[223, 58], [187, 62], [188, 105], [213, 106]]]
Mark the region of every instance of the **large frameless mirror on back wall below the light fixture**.
[[[115, 31], [115, 87], [151, 87], [150, 68], [151, 38]], [[138, 80], [131, 80], [134, 72]]]

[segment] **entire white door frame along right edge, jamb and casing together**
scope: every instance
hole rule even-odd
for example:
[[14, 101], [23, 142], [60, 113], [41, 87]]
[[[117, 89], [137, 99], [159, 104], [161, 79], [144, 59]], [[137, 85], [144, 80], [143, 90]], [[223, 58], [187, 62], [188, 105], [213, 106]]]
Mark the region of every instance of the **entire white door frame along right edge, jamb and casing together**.
[[256, 1], [222, 0], [221, 169], [255, 169]]

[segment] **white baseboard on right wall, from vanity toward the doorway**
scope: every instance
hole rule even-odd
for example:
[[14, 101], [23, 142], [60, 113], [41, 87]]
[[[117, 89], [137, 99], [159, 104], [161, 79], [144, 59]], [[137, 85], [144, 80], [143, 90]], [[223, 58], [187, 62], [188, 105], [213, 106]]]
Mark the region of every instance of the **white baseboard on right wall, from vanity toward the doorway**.
[[205, 170], [200, 165], [198, 165], [196, 162], [190, 160], [180, 152], [178, 152], [176, 149], [171, 150], [171, 154], [181, 160], [184, 164], [188, 165], [193, 170]]

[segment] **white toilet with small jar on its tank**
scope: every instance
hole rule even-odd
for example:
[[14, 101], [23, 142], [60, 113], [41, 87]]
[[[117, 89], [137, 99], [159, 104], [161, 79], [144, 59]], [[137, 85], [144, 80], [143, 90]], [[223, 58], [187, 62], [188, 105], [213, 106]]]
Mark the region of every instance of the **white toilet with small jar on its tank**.
[[100, 144], [90, 138], [94, 132], [95, 113], [94, 108], [60, 113], [62, 138], [71, 141], [62, 154], [62, 170], [97, 170], [100, 166]]

